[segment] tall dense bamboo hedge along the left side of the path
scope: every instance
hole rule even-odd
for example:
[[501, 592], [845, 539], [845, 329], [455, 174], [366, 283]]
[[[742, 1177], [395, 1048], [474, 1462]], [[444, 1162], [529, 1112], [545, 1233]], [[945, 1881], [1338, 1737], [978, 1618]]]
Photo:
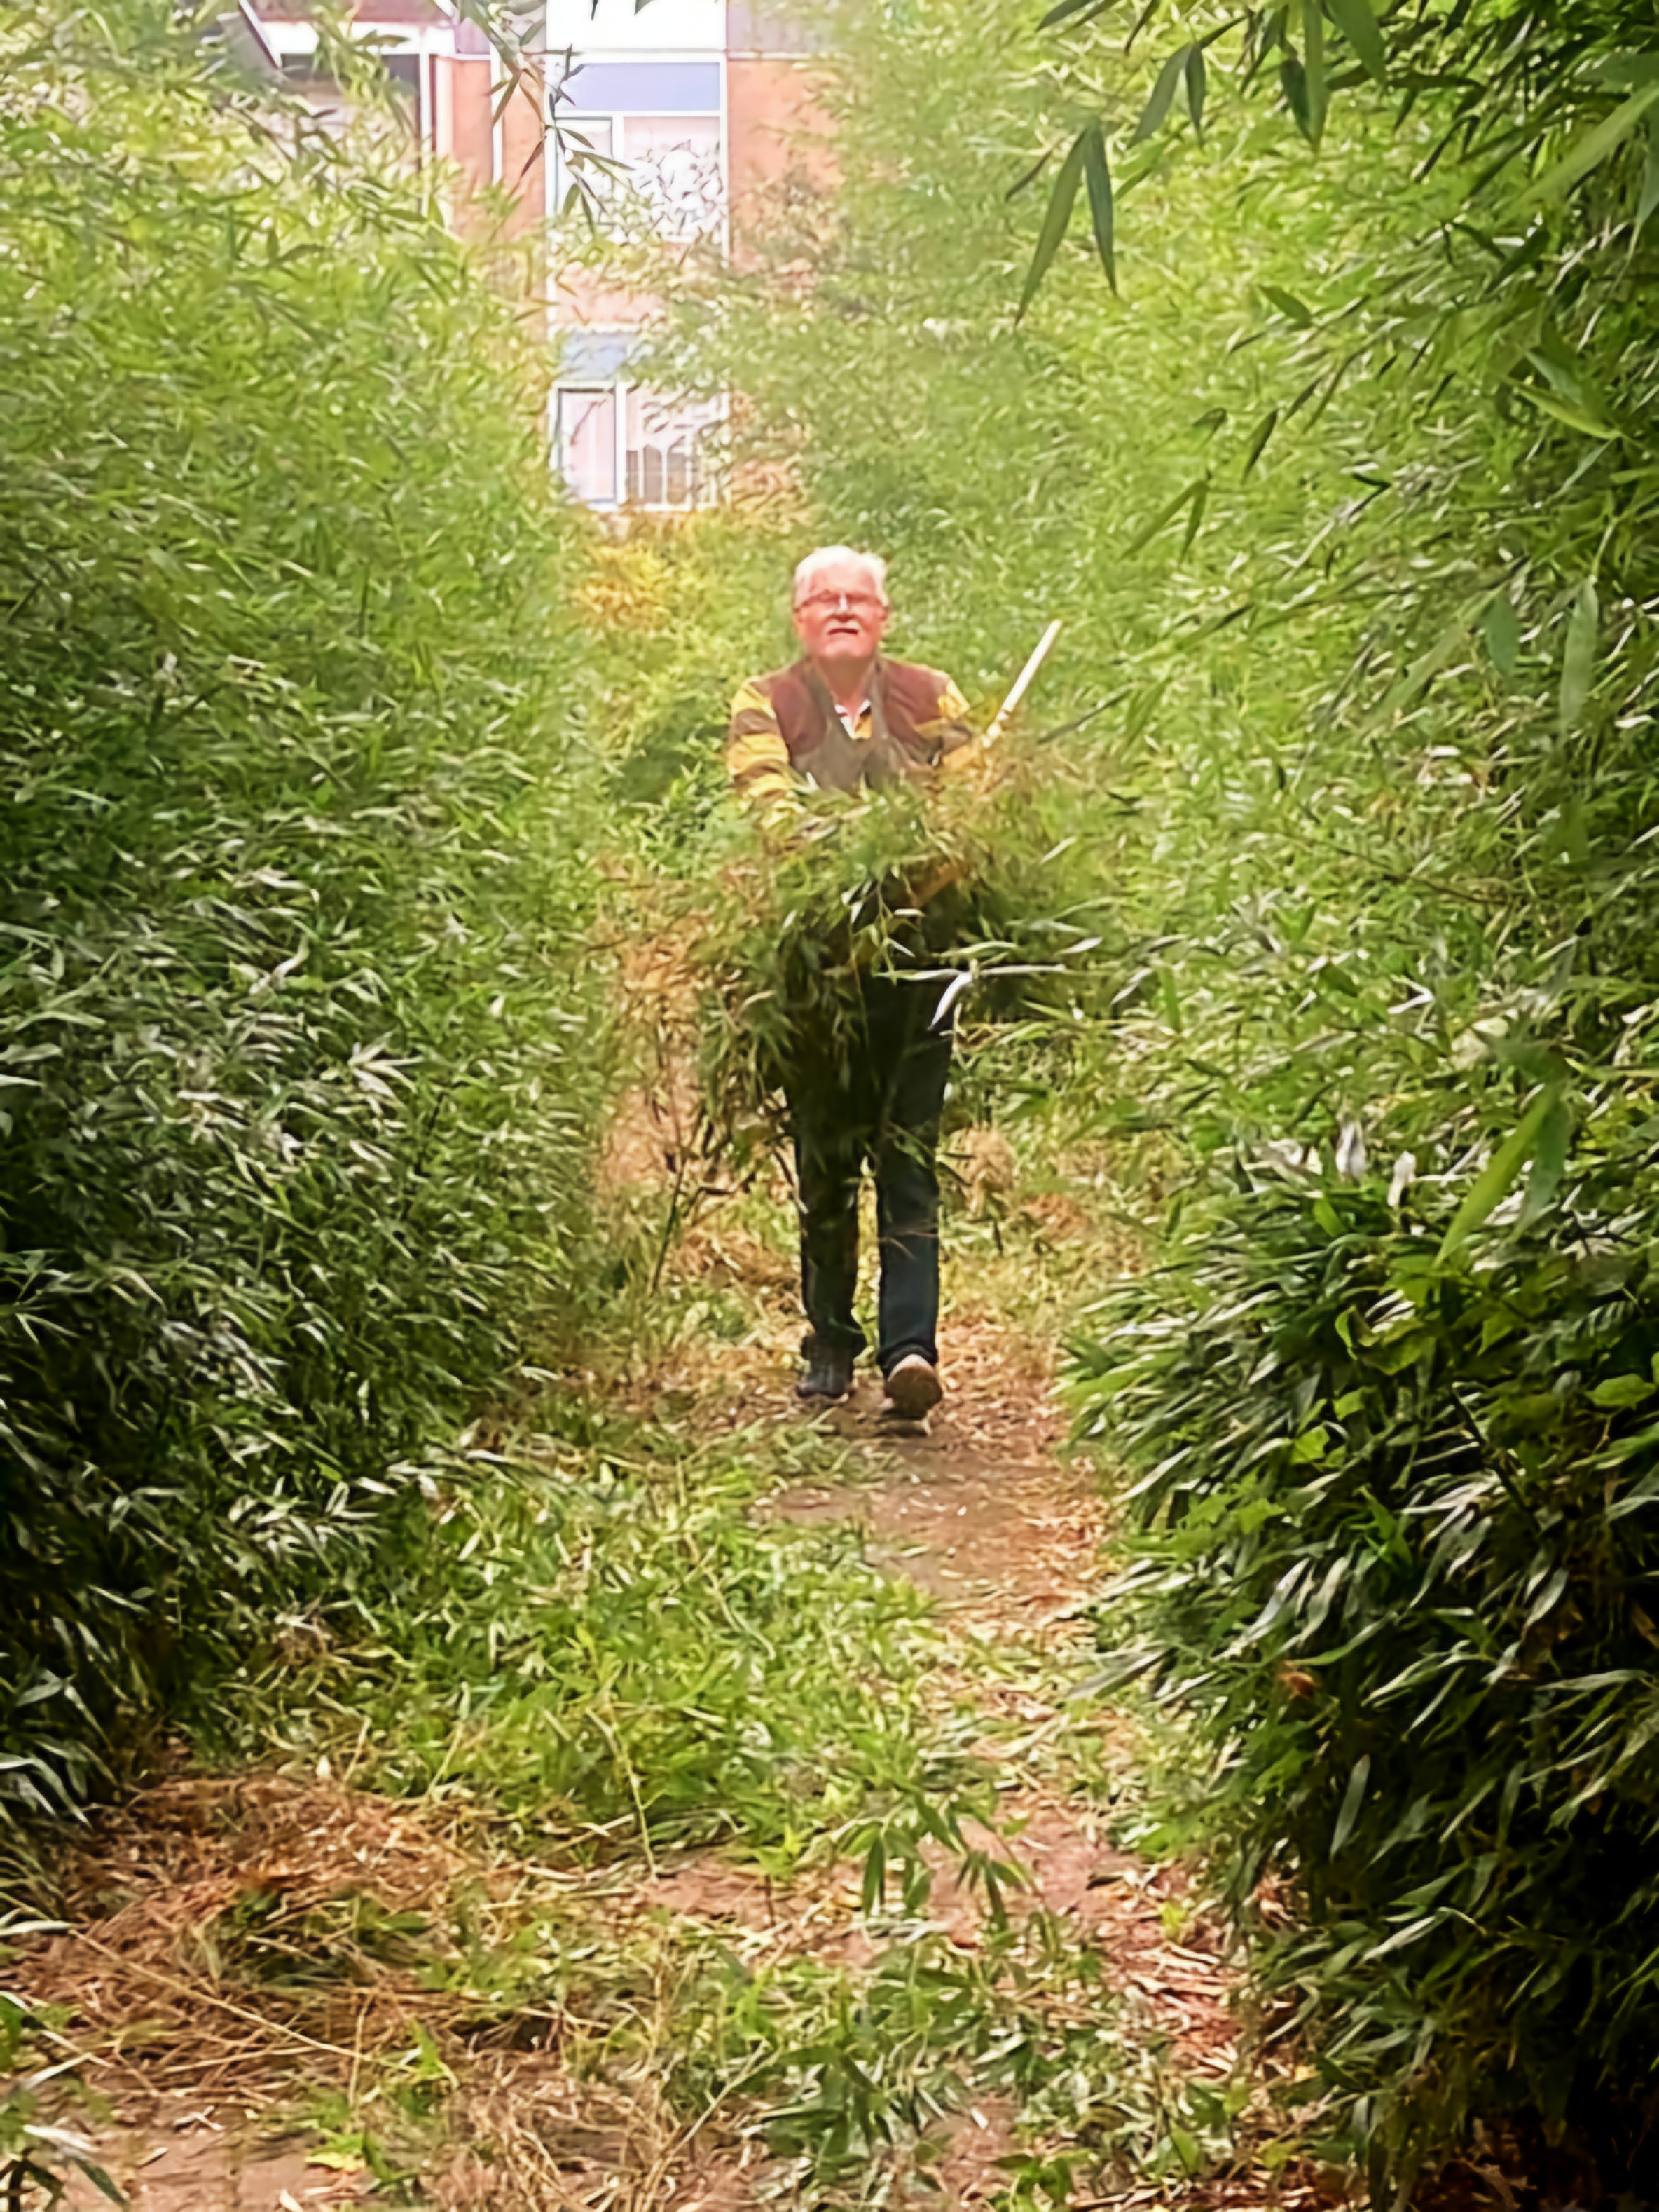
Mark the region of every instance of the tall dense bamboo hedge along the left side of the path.
[[168, 7], [4, 49], [0, 1816], [372, 1571], [591, 1082], [511, 285]]

